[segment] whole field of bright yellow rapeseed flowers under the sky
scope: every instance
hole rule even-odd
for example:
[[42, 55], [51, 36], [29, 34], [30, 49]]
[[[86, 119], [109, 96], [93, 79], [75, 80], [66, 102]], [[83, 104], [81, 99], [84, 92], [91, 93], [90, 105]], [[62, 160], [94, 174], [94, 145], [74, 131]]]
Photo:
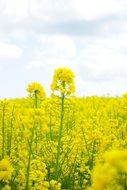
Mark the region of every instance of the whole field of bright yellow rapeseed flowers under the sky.
[[0, 189], [126, 190], [127, 95], [75, 97], [66, 68], [51, 90], [0, 101]]

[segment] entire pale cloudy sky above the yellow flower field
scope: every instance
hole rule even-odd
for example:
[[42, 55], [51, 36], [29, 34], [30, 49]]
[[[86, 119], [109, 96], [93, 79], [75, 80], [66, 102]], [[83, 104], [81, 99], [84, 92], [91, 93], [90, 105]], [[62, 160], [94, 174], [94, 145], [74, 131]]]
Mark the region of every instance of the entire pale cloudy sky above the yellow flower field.
[[127, 0], [0, 0], [0, 99], [50, 95], [54, 69], [75, 74], [76, 95], [127, 92]]

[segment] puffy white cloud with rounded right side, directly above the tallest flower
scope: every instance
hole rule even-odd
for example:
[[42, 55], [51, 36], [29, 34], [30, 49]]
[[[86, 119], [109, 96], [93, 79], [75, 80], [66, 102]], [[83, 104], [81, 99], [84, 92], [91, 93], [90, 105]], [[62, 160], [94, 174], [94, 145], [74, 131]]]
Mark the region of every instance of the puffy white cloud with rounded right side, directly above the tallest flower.
[[[40, 35], [40, 49], [35, 49], [31, 63], [26, 69], [43, 67], [73, 66], [76, 46], [73, 39], [66, 35]], [[43, 48], [42, 48], [43, 47]]]

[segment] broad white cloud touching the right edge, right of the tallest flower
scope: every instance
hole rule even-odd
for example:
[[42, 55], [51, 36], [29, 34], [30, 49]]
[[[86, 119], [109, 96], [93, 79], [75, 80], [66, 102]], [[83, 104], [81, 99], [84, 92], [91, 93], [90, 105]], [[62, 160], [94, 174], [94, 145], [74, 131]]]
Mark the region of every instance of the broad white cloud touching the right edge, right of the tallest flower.
[[95, 38], [87, 41], [81, 50], [78, 62], [89, 68], [93, 76], [127, 74], [127, 34], [115, 37]]

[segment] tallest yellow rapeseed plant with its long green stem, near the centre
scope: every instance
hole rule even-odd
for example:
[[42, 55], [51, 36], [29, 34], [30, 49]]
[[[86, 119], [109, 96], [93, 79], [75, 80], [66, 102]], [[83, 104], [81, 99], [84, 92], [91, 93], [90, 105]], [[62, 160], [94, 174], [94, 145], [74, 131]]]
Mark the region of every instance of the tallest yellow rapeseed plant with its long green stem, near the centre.
[[71, 96], [75, 92], [74, 74], [68, 68], [58, 68], [54, 72], [53, 81], [51, 84], [53, 93], [59, 94], [61, 97], [61, 114], [60, 114], [60, 127], [58, 131], [58, 146], [56, 154], [56, 167], [55, 167], [55, 178], [59, 180], [60, 176], [60, 149], [61, 139], [63, 131], [64, 121], [64, 100], [66, 96]]

